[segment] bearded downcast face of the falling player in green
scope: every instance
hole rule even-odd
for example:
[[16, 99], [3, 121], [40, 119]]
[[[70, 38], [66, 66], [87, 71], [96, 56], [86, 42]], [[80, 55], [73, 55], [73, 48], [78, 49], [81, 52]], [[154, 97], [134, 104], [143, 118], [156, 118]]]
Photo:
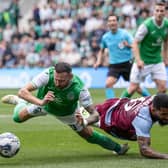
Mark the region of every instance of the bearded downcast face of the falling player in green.
[[55, 72], [54, 82], [55, 82], [55, 85], [60, 89], [67, 87], [69, 85], [71, 79], [72, 79], [71, 73], [66, 73], [66, 72], [57, 73], [57, 72]]

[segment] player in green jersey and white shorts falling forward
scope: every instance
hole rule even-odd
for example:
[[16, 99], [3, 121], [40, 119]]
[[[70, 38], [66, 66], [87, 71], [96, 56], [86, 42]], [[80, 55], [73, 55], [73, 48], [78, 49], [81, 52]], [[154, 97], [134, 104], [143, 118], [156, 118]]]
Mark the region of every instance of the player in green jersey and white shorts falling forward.
[[[36, 89], [37, 96], [34, 96], [31, 92]], [[2, 102], [16, 105], [13, 113], [15, 122], [21, 123], [32, 117], [52, 114], [89, 143], [98, 144], [119, 155], [127, 152], [127, 144], [120, 145], [89, 126], [99, 120], [99, 114], [92, 104], [88, 89], [72, 74], [69, 64], [60, 62], [43, 71], [21, 88], [18, 95], [20, 98], [15, 95], [2, 98]], [[91, 114], [82, 122], [78, 122], [79, 104]]]

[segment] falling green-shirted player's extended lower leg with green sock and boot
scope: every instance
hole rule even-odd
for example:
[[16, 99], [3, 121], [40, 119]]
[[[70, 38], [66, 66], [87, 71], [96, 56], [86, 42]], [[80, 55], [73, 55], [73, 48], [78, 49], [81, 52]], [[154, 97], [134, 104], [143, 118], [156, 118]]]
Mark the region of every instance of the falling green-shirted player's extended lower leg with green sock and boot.
[[125, 154], [129, 149], [128, 144], [120, 145], [108, 136], [93, 130], [93, 128], [90, 126], [87, 126], [86, 128], [82, 129], [80, 132], [77, 133], [82, 138], [87, 140], [87, 142], [92, 144], [98, 144], [105, 149], [115, 151], [119, 155]]

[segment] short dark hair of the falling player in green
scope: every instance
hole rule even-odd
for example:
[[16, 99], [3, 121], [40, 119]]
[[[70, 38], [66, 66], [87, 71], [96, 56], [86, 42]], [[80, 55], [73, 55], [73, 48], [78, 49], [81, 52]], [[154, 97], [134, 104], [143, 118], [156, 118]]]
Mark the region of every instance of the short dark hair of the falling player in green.
[[62, 73], [62, 72], [71, 73], [72, 72], [71, 65], [66, 62], [59, 62], [54, 67], [55, 67], [55, 71], [58, 73]]

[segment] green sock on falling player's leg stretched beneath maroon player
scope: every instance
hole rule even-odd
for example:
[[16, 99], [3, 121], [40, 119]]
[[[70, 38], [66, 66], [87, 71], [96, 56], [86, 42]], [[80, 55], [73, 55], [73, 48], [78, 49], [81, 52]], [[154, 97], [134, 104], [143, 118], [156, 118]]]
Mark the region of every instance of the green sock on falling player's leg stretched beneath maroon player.
[[115, 152], [119, 152], [121, 150], [120, 144], [114, 142], [109, 137], [107, 137], [107, 136], [105, 136], [95, 130], [93, 131], [93, 134], [89, 138], [87, 138], [87, 141], [89, 143], [98, 144], [105, 149], [112, 150]]

